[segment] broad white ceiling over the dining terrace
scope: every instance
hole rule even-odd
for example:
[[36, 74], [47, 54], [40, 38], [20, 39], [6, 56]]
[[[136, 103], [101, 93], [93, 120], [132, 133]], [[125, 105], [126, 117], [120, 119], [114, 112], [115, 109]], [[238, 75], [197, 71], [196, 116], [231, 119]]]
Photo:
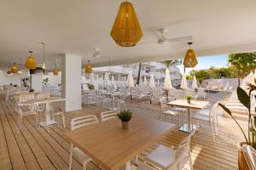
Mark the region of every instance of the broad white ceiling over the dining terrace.
[[[121, 0], [2, 0], [0, 5], [0, 67], [25, 61], [34, 51], [47, 66], [60, 54], [83, 55], [93, 65], [108, 59], [92, 58], [100, 48], [111, 64], [183, 58], [186, 42], [137, 44], [122, 48], [110, 31]], [[166, 37], [192, 36], [198, 56], [230, 54], [256, 49], [255, 0], [131, 0], [143, 29], [141, 42], [157, 41], [153, 31], [165, 27]], [[255, 50], [256, 51], [256, 50]], [[214, 62], [214, 61], [212, 61]]]

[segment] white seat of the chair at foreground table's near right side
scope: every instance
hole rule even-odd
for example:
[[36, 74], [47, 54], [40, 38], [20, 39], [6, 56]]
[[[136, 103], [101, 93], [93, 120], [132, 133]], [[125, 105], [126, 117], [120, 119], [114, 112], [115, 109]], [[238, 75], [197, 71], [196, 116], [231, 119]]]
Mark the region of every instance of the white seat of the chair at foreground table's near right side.
[[166, 169], [175, 161], [175, 154], [176, 150], [160, 145], [146, 156], [145, 161], [160, 169]]

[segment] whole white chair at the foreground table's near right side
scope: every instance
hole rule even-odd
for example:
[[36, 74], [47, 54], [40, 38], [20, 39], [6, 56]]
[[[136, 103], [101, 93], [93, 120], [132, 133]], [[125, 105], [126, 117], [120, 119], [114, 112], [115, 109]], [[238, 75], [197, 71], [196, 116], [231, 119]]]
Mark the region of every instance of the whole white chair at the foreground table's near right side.
[[[177, 145], [177, 150], [160, 144], [160, 146], [145, 157], [145, 163], [160, 168], [161, 170], [181, 170], [187, 161], [189, 161], [190, 170], [193, 170], [190, 139], [194, 133], [195, 129]], [[140, 169], [140, 167], [137, 168], [137, 170], [142, 169]], [[150, 167], [148, 167], [148, 169], [150, 169]]]

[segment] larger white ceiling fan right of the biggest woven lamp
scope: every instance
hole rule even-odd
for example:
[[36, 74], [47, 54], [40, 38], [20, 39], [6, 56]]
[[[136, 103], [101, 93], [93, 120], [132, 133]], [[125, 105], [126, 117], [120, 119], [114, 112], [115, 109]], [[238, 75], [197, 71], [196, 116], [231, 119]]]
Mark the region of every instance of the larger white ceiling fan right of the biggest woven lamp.
[[166, 44], [168, 42], [183, 42], [183, 41], [191, 41], [192, 40], [192, 36], [166, 38], [165, 33], [167, 31], [168, 30], [166, 28], [160, 28], [158, 30], [159, 33], [154, 32], [154, 36], [157, 37], [157, 41], [155, 41], [155, 42], [142, 42], [141, 44], [159, 43], [160, 45], [162, 45], [162, 44]]

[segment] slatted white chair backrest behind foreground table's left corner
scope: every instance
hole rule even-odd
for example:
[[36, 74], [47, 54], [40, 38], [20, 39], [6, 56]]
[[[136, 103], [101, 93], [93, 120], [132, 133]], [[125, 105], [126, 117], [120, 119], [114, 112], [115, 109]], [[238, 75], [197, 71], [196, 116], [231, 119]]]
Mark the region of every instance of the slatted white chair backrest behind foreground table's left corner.
[[71, 120], [71, 130], [91, 124], [96, 124], [97, 122], [98, 119], [95, 115], [79, 116]]

